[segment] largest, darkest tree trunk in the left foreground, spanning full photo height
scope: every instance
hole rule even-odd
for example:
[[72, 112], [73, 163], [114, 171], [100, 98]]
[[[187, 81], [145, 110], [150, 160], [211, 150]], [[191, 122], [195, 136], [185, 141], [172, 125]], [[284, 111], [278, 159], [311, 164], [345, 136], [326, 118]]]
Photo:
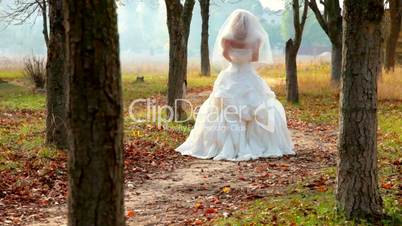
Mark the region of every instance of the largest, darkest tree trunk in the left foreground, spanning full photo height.
[[123, 105], [114, 0], [64, 0], [69, 72], [68, 224], [124, 225]]

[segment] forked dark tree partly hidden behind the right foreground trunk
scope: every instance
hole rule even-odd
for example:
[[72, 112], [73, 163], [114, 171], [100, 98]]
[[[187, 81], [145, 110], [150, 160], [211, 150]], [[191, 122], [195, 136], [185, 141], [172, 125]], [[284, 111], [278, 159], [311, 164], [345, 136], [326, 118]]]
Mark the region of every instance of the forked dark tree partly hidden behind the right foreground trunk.
[[342, 69], [342, 15], [339, 0], [322, 0], [324, 12], [321, 13], [316, 0], [309, 0], [308, 4], [314, 12], [318, 23], [328, 35], [332, 45], [331, 80], [338, 84]]

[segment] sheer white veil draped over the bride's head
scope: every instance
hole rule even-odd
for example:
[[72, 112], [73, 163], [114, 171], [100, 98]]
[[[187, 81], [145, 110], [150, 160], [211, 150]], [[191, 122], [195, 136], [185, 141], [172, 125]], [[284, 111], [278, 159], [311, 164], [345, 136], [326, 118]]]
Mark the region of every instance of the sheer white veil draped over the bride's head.
[[215, 41], [212, 64], [224, 66], [229, 63], [223, 56], [222, 40], [234, 40], [248, 46], [259, 43], [259, 57], [256, 63], [272, 64], [272, 50], [267, 32], [258, 18], [247, 10], [237, 9], [232, 12], [222, 25]]

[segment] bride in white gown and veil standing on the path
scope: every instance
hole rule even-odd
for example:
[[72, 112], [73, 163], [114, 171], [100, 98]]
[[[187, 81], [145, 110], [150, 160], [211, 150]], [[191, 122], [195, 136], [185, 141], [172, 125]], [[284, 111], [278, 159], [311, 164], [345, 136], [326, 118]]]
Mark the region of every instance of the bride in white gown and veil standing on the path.
[[252, 62], [272, 63], [268, 35], [248, 11], [234, 11], [219, 32], [214, 62], [228, 67], [202, 104], [183, 155], [243, 161], [294, 154], [285, 111]]

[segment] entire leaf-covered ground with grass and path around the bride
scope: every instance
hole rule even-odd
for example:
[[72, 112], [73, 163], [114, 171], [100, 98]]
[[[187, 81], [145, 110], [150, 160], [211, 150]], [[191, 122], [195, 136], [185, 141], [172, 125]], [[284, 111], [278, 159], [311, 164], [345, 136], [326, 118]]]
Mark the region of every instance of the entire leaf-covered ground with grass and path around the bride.
[[[128, 224], [353, 225], [334, 210], [337, 91], [325, 76], [328, 66], [300, 70], [301, 103], [285, 103], [296, 156], [241, 163], [196, 160], [173, 150], [191, 122], [158, 127], [127, 119]], [[283, 100], [283, 68], [260, 73]], [[43, 144], [45, 96], [27, 87], [19, 73], [0, 72], [0, 78], [6, 81], [0, 83], [0, 225], [63, 224], [67, 156]], [[189, 99], [200, 103], [215, 77], [192, 73], [189, 78]], [[164, 74], [145, 76], [145, 83], [134, 80], [133, 75], [123, 79], [126, 105], [148, 97], [164, 102]], [[402, 80], [383, 78], [378, 149], [386, 225], [400, 224], [402, 214], [402, 94], [397, 90]]]

